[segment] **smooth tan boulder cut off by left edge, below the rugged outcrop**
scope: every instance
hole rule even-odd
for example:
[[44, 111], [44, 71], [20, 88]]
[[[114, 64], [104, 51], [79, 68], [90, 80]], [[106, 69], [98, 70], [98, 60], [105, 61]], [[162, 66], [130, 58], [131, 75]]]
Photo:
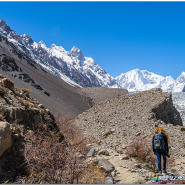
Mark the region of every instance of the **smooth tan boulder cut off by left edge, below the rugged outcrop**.
[[0, 122], [0, 157], [3, 152], [12, 146], [12, 131], [8, 122]]

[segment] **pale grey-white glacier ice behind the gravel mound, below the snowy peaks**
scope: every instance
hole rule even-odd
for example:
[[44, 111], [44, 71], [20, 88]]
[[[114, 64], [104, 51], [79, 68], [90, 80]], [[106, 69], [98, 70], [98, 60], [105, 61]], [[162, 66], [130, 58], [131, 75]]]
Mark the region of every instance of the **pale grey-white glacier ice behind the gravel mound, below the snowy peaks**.
[[[135, 94], [137, 92], [129, 92]], [[185, 126], [185, 92], [172, 92], [173, 105], [179, 111], [183, 125]]]

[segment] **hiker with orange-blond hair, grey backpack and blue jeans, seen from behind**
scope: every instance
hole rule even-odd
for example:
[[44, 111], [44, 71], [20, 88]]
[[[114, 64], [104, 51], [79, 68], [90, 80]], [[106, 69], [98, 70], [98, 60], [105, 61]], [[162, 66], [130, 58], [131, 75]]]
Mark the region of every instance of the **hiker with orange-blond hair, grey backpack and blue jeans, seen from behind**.
[[153, 152], [155, 155], [157, 155], [158, 172], [160, 174], [162, 174], [161, 155], [163, 156], [163, 172], [167, 173], [166, 172], [166, 156], [169, 157], [168, 142], [169, 142], [168, 134], [164, 131], [163, 128], [158, 127], [153, 136], [152, 145], [153, 145]]

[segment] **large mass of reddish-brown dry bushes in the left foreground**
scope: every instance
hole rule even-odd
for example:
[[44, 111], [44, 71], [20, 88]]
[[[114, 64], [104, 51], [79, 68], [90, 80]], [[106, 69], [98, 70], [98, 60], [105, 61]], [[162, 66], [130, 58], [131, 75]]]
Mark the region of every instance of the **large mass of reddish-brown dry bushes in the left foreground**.
[[[59, 142], [55, 135], [35, 131], [25, 143], [24, 157], [28, 175], [19, 183], [84, 184], [105, 183], [105, 174], [93, 164], [87, 164], [88, 140], [69, 119], [56, 116], [56, 122], [65, 135]], [[79, 154], [84, 155], [79, 157]]]

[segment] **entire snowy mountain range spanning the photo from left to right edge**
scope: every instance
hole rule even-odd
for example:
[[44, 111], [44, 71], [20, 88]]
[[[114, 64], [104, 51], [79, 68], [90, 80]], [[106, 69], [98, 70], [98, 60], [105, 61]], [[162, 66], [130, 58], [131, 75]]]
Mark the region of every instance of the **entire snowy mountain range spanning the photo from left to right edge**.
[[18, 35], [3, 19], [0, 20], [0, 35], [7, 37], [9, 42], [42, 66], [44, 70], [75, 87], [126, 88], [128, 91], [161, 88], [166, 92], [185, 91], [184, 72], [176, 80], [172, 76], [163, 77], [139, 69], [121, 73], [113, 78], [92, 58], [85, 57], [76, 46], [73, 46], [70, 51], [55, 44], [48, 48], [42, 40], [37, 43], [25, 33]]

